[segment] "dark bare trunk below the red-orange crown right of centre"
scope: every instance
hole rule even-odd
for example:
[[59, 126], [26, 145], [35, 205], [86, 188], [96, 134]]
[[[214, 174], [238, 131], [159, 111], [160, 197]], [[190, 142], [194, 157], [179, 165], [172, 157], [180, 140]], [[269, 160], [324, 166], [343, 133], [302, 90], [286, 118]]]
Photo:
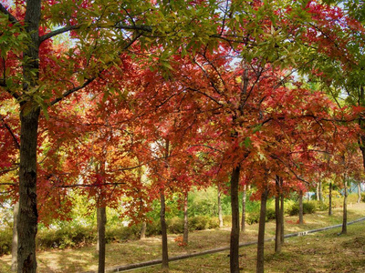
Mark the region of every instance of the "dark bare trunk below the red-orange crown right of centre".
[[232, 170], [231, 176], [231, 208], [232, 208], [232, 228], [230, 242], [230, 268], [231, 273], [239, 273], [239, 204], [238, 204], [238, 182], [241, 167], [237, 166]]

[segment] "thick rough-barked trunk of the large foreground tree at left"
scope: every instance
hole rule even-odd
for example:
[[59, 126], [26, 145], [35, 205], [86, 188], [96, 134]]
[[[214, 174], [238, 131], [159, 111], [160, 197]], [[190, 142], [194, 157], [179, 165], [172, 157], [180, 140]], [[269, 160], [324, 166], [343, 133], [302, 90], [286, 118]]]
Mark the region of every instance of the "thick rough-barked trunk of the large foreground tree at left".
[[[39, 21], [41, 0], [26, 1], [25, 29], [29, 46], [23, 53], [23, 90], [37, 85], [39, 78]], [[19, 217], [17, 221], [17, 272], [36, 273], [36, 145], [40, 108], [27, 96], [20, 102]]]

